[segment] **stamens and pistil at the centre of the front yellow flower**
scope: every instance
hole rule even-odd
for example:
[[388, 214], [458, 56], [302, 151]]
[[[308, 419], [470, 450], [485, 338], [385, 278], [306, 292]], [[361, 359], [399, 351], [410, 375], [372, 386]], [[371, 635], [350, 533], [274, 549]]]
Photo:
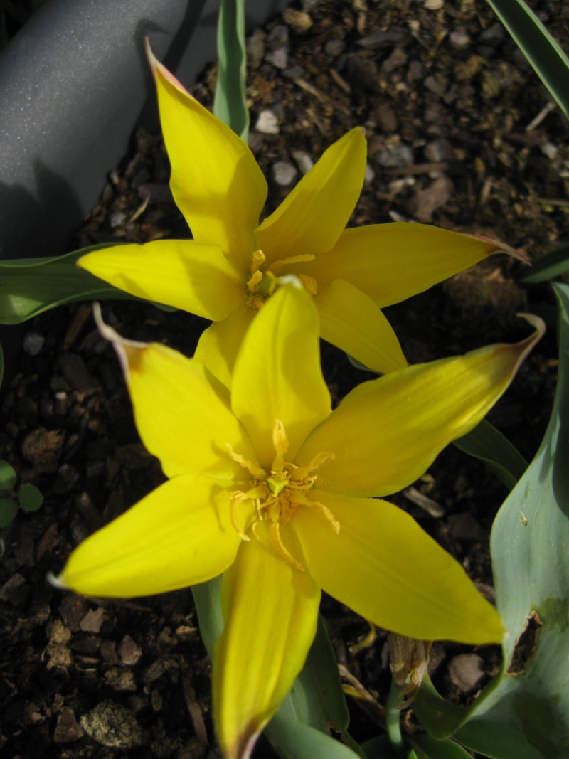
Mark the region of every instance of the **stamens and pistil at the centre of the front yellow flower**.
[[275, 458], [270, 472], [266, 472], [251, 461], [247, 461], [243, 456], [234, 452], [228, 444], [227, 448], [231, 458], [247, 469], [253, 478], [251, 487], [247, 492], [236, 490], [231, 497], [231, 524], [242, 540], [250, 540], [250, 537], [244, 533], [237, 522], [237, 507], [241, 503], [253, 501], [256, 512], [251, 525], [253, 534], [255, 534], [255, 527], [259, 521], [269, 522], [269, 536], [272, 546], [282, 559], [303, 572], [303, 565], [294, 559], [294, 556], [282, 542], [280, 526], [287, 524], [300, 506], [308, 506], [322, 514], [335, 532], [340, 530], [340, 525], [330, 509], [323, 503], [307, 497], [308, 491], [311, 490], [318, 478], [316, 469], [327, 459], [334, 458], [334, 454], [332, 452], [318, 453], [309, 464], [302, 467], [291, 463], [291, 461], [285, 461], [288, 452], [288, 439], [285, 427], [278, 419], [275, 420], [275, 427], [272, 430], [272, 442], [275, 446]]

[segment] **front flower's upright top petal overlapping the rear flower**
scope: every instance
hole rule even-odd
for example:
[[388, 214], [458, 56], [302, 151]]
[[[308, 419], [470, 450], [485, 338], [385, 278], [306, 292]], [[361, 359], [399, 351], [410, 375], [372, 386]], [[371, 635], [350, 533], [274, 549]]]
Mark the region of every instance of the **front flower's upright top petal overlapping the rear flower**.
[[330, 413], [319, 363], [319, 323], [313, 298], [295, 280], [281, 285], [257, 313], [241, 345], [231, 408], [249, 433], [264, 468], [275, 458], [275, 420], [285, 426], [287, 461]]

